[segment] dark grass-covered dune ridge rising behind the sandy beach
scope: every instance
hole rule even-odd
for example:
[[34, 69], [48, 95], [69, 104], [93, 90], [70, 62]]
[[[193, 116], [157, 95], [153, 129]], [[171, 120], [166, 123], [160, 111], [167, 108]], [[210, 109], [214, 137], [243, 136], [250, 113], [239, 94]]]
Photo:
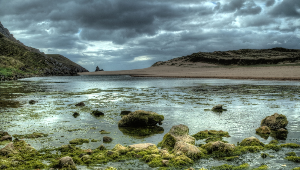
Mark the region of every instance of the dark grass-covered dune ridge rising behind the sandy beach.
[[300, 62], [299, 49], [240, 49], [233, 51], [198, 52], [166, 62], [156, 62], [152, 65], [181, 65], [185, 62], [203, 62], [218, 65], [268, 65]]

